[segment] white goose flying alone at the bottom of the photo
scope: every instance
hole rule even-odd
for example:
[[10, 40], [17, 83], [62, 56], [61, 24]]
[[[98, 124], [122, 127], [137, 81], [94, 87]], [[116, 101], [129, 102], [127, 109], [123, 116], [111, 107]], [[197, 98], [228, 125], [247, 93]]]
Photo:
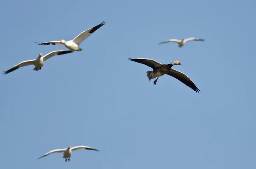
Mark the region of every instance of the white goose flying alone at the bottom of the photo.
[[[42, 157], [40, 158], [43, 158], [51, 153], [55, 153], [55, 152], [63, 152], [63, 157], [62, 158], [65, 158], [66, 159], [66, 162], [67, 162], [67, 158], [68, 158], [68, 161], [71, 161], [70, 160], [70, 157], [71, 157], [71, 154], [72, 154], [72, 151], [75, 151], [75, 150], [78, 150], [78, 149], [87, 149], [87, 150], [96, 150], [96, 151], [99, 151], [97, 149], [93, 149], [91, 147], [87, 147], [87, 146], [76, 146], [76, 147], [72, 147], [69, 146], [67, 149], [55, 149], [55, 150], [52, 150], [50, 152], [47, 152], [45, 155], [43, 155]], [[38, 158], [38, 159], [40, 159]]]

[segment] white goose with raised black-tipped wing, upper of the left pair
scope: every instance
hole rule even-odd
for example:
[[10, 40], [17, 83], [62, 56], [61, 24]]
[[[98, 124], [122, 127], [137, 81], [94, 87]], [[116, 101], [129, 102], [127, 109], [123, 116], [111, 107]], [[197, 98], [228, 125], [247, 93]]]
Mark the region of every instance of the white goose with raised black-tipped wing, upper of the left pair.
[[93, 28], [87, 29], [86, 31], [77, 35], [77, 37], [75, 37], [75, 39], [69, 40], [69, 41], [61, 40], [61, 41], [49, 41], [49, 42], [44, 42], [44, 43], [38, 43], [35, 41], [34, 42], [38, 43], [38, 45], [49, 45], [49, 44], [64, 45], [64, 46], [66, 46], [67, 49], [70, 49], [72, 51], [81, 51], [83, 49], [79, 48], [80, 43], [82, 43], [87, 37], [89, 37], [91, 34], [93, 34], [93, 32], [95, 32], [97, 29], [99, 29], [103, 25], [105, 25], [104, 21], [102, 23], [100, 23], [99, 25], [94, 26]]

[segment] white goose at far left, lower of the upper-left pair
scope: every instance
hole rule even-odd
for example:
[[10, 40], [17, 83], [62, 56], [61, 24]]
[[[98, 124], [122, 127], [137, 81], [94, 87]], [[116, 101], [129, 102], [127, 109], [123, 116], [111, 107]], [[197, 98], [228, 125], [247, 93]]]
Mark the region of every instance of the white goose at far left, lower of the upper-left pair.
[[41, 70], [42, 67], [44, 66], [44, 61], [53, 57], [53, 56], [56, 56], [56, 55], [61, 55], [61, 54], [68, 54], [68, 53], [72, 53], [73, 51], [53, 51], [53, 52], [50, 52], [44, 56], [42, 56], [42, 53], [39, 54], [39, 56], [34, 59], [34, 60], [26, 60], [26, 61], [23, 61], [23, 62], [20, 62], [19, 64], [13, 66], [11, 69], [3, 72], [3, 74], [7, 74], [7, 73], [10, 73], [12, 71], [15, 71], [16, 69], [19, 69], [20, 67], [23, 67], [23, 66], [29, 66], [29, 65], [35, 65], [35, 68], [33, 70]]

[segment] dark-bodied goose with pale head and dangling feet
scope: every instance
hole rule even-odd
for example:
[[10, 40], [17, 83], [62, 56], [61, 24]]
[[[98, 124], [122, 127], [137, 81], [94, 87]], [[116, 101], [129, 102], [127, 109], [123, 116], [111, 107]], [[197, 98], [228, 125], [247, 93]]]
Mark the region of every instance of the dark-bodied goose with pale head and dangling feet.
[[[142, 63], [142, 64], [147, 65], [153, 69], [153, 71], [148, 71], [146, 73], [149, 81], [156, 77], [158, 79], [158, 77], [163, 76], [164, 74], [168, 74], [172, 77], [175, 77], [177, 80], [180, 80], [182, 83], [184, 83], [186, 86], [189, 86], [195, 92], [200, 91], [186, 74], [179, 72], [175, 69], [172, 69], [172, 66], [174, 66], [174, 65], [181, 65], [180, 61], [178, 61], [178, 60], [175, 60], [174, 62], [167, 64], [167, 65], [159, 63], [153, 59], [146, 59], [146, 58], [138, 58], [138, 59], [129, 58], [129, 60], [137, 62], [137, 63]], [[154, 80], [154, 85], [157, 83], [157, 79]]]

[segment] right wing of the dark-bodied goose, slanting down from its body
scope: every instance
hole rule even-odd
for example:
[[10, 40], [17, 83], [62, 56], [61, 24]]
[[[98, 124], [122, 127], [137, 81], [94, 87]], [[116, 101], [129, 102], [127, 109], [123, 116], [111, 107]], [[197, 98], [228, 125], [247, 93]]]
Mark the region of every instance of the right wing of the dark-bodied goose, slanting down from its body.
[[[199, 92], [200, 90], [197, 88], [197, 86], [195, 86], [195, 84], [192, 82], [192, 80], [190, 80], [190, 78], [180, 72], [180, 71], [177, 71], [175, 69], [171, 69], [170, 72], [166, 73], [172, 77], [175, 77], [177, 80], [180, 80], [182, 83], [184, 83], [186, 86], [189, 86], [191, 89], [193, 89], [195, 92]], [[201, 92], [201, 91], [200, 91]]]

